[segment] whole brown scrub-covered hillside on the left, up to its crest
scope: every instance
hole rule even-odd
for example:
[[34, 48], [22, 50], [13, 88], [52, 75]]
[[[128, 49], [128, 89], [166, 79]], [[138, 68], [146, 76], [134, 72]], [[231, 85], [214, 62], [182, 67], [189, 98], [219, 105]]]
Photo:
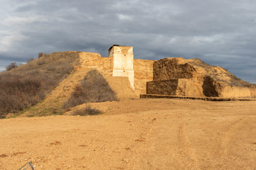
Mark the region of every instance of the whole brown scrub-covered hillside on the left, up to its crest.
[[10, 72], [0, 73], [0, 118], [41, 101], [70, 74], [77, 53], [60, 54], [46, 55]]

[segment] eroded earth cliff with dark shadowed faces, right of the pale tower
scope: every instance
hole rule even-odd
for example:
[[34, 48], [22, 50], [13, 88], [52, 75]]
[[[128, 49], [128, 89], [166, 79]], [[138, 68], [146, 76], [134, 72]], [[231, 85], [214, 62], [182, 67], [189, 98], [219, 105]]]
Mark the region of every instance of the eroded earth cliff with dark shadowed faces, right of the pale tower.
[[207, 97], [253, 97], [255, 86], [238, 79], [221, 67], [201, 60], [165, 58], [154, 62], [153, 81], [146, 94]]

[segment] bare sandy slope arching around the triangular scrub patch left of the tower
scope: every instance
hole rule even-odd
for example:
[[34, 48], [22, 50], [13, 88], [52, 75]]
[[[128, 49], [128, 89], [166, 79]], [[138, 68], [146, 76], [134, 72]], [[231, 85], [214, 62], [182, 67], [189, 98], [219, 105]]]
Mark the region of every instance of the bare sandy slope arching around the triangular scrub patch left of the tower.
[[[65, 53], [65, 52], [64, 52]], [[69, 53], [69, 52], [68, 52]], [[138, 98], [138, 94], [129, 86], [127, 77], [112, 77], [112, 61], [108, 57], [101, 57], [99, 54], [92, 52], [75, 52], [78, 57], [73, 63], [73, 71], [68, 77], [60, 81], [58, 86], [48, 94], [43, 101], [35, 106], [23, 111], [22, 116], [34, 115], [52, 115], [63, 113], [63, 103], [68, 101], [75, 90], [75, 86], [84, 79], [86, 74], [93, 69], [97, 69], [100, 74], [107, 80], [110, 87], [121, 98]], [[54, 52], [43, 57], [61, 58], [63, 52]], [[42, 58], [43, 58], [42, 57]]]

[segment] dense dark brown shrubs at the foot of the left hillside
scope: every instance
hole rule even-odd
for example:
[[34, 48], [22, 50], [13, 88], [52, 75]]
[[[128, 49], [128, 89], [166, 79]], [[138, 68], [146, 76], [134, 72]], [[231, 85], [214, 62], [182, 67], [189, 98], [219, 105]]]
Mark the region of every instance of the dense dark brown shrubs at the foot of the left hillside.
[[53, 77], [37, 72], [1, 74], [0, 81], [1, 117], [33, 106], [58, 84]]

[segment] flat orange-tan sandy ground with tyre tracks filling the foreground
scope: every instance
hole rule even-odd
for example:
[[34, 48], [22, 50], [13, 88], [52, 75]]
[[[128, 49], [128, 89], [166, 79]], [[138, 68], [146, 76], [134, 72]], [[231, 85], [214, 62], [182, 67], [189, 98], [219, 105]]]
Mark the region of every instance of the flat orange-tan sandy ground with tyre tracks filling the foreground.
[[256, 101], [136, 99], [0, 120], [0, 169], [256, 169]]

